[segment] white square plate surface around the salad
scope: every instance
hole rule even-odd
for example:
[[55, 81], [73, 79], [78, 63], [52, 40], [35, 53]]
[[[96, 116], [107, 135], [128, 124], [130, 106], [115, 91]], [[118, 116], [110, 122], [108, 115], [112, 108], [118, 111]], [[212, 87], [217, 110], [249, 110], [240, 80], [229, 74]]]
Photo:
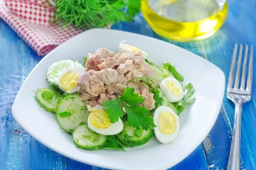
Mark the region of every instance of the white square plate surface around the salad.
[[[148, 53], [157, 65], [171, 62], [192, 83], [196, 101], [180, 114], [180, 132], [169, 144], [153, 137], [147, 144], [126, 149], [126, 152], [104, 150], [86, 151], [73, 144], [72, 136], [59, 128], [55, 115], [40, 108], [34, 99], [38, 88], [47, 87], [48, 67], [57, 61], [83, 57], [97, 48], [118, 51], [119, 42], [126, 40]], [[129, 32], [92, 29], [69, 39], [41, 60], [21, 86], [12, 106], [17, 122], [39, 142], [71, 159], [90, 165], [122, 170], [167, 169], [188, 156], [211, 130], [218, 116], [225, 90], [223, 71], [203, 58], [173, 44]]]

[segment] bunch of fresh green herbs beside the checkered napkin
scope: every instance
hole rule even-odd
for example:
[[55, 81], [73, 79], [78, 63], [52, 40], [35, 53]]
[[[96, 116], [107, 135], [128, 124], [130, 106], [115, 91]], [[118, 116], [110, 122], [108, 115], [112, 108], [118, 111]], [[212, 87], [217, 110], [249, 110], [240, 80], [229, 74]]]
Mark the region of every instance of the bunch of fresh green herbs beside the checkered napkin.
[[53, 24], [79, 29], [103, 28], [109, 24], [132, 21], [140, 11], [141, 0], [53, 0]]

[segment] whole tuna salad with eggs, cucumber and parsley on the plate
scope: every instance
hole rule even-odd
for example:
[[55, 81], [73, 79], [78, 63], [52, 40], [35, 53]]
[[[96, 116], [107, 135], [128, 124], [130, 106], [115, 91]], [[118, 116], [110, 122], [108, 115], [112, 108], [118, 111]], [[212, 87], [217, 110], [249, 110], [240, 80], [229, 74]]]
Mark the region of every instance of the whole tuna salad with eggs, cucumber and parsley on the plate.
[[173, 65], [162, 67], [122, 41], [119, 52], [99, 48], [84, 63], [62, 60], [46, 74], [49, 88], [35, 99], [55, 113], [61, 129], [86, 150], [144, 145], [153, 136], [167, 144], [179, 133], [179, 114], [195, 101], [191, 83]]

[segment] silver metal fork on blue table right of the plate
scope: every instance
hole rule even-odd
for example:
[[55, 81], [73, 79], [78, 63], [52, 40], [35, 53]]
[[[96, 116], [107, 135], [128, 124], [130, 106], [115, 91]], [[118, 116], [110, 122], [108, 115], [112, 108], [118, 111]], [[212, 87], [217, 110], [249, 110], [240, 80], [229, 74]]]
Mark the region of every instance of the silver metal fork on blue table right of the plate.
[[242, 105], [251, 100], [251, 86], [252, 86], [252, 65], [253, 65], [253, 46], [251, 46], [249, 55], [249, 69], [247, 73], [247, 83], [245, 87], [246, 67], [247, 67], [247, 54], [248, 46], [245, 45], [244, 49], [244, 62], [242, 70], [241, 85], [240, 83], [240, 68], [242, 62], [243, 46], [240, 44], [237, 72], [235, 74], [235, 83], [233, 85], [233, 78], [235, 73], [235, 63], [237, 56], [237, 44], [235, 44], [232, 56], [232, 63], [228, 77], [227, 97], [235, 104], [235, 120], [234, 129], [232, 134], [232, 142], [230, 147], [230, 154], [228, 158], [227, 170], [240, 170], [240, 136], [241, 136], [241, 118], [242, 118]]

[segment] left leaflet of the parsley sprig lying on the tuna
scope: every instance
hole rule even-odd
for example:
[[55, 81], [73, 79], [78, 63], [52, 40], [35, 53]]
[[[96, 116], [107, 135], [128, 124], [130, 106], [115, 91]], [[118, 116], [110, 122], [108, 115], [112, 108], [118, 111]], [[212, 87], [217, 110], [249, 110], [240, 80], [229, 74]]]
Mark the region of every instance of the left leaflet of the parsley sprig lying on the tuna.
[[120, 106], [120, 99], [117, 97], [114, 100], [108, 100], [103, 102], [103, 108], [106, 109], [109, 114], [109, 119], [111, 123], [118, 121], [119, 117], [122, 118], [124, 111]]

